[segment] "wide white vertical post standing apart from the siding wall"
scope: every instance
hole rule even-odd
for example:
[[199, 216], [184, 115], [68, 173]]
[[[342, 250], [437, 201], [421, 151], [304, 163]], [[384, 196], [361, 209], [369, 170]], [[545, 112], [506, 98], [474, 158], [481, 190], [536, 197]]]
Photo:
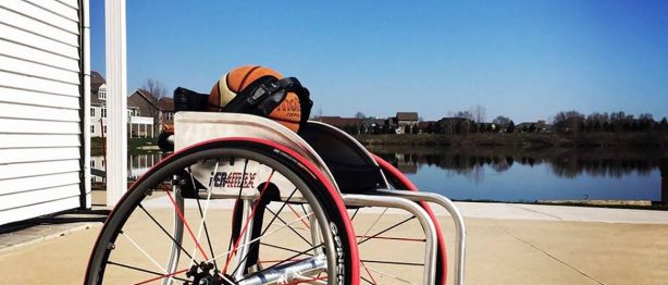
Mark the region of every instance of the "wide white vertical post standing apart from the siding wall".
[[125, 0], [104, 1], [107, 63], [107, 207], [127, 189], [127, 69]]

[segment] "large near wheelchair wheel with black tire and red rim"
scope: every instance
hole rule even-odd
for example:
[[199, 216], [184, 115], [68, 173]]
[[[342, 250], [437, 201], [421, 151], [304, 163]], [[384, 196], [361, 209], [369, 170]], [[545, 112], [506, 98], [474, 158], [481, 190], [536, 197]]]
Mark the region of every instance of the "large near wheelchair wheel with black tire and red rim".
[[159, 162], [108, 218], [86, 284], [359, 284], [335, 188], [258, 139], [202, 142]]

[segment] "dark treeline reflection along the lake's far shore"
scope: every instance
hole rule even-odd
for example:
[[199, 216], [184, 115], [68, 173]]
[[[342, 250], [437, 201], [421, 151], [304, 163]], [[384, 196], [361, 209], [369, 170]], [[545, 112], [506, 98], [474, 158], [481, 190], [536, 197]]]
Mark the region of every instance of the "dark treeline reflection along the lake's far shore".
[[656, 170], [666, 153], [643, 150], [544, 150], [449, 149], [370, 147], [370, 150], [392, 162], [404, 173], [418, 173], [419, 165], [437, 166], [459, 174], [488, 166], [505, 172], [514, 164], [536, 166], [547, 164], [560, 177], [648, 175]]

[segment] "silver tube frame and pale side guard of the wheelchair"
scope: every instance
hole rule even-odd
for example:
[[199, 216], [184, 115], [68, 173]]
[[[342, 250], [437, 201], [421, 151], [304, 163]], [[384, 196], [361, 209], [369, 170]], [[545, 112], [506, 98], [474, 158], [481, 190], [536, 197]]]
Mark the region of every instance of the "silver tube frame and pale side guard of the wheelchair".
[[[330, 134], [339, 136], [339, 138], [348, 140], [351, 148], [363, 150], [368, 156], [370, 163], [374, 163], [376, 166], [389, 171], [396, 171], [391, 168], [392, 165], [382, 159], [371, 154], [361, 146], [355, 138], [348, 134], [339, 131], [331, 125], [320, 122], [309, 122], [310, 125], [329, 129]], [[202, 113], [202, 112], [178, 112], [175, 115], [175, 149], [181, 149], [186, 146], [205, 141], [213, 138], [221, 137], [250, 137], [261, 138], [275, 141], [283, 145], [297, 153], [307, 158], [312, 162], [326, 178], [330, 179], [332, 185], [337, 189], [341, 189], [337, 185], [334, 175], [324, 163], [323, 159], [318, 152], [296, 133], [289, 131], [283, 125], [273, 122], [271, 120], [238, 113]], [[398, 172], [398, 171], [397, 171]], [[436, 284], [436, 252], [437, 243], [440, 243], [437, 236], [437, 230], [435, 224], [435, 215], [431, 212], [431, 209], [418, 206], [416, 202], [432, 202], [444, 208], [451, 216], [455, 224], [455, 262], [453, 267], [454, 283], [457, 285], [463, 284], [465, 276], [465, 259], [466, 259], [466, 225], [463, 216], [448, 198], [434, 194], [417, 191], [415, 185], [412, 185], [404, 175], [400, 175], [406, 181], [409, 189], [391, 189], [383, 188], [372, 191], [372, 194], [343, 194], [338, 190], [341, 199], [346, 206], [351, 207], [386, 207], [405, 210], [416, 215], [425, 232], [426, 246], [425, 246], [425, 269], [423, 272], [424, 284]], [[386, 177], [383, 175], [385, 185], [387, 183]], [[177, 203], [183, 207], [183, 198], [177, 199]], [[425, 210], [426, 209], [426, 210]], [[429, 211], [429, 212], [428, 212]], [[178, 237], [183, 236], [183, 223], [176, 216], [174, 231]], [[445, 255], [445, 253], [444, 253]], [[244, 256], [244, 255], [239, 255]], [[178, 261], [180, 251], [176, 248], [176, 243], [172, 247], [171, 259], [169, 263], [169, 270], [173, 270]]]

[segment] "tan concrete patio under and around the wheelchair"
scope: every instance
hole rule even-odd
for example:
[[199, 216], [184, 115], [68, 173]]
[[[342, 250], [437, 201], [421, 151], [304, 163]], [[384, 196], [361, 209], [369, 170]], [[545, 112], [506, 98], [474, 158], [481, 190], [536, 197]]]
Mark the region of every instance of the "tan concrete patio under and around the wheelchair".
[[[668, 212], [515, 203], [457, 205], [467, 216], [467, 284], [666, 284], [668, 281]], [[153, 207], [160, 208], [161, 202], [157, 200]], [[221, 205], [218, 210], [224, 208]], [[367, 219], [373, 220], [372, 215]], [[440, 219], [451, 243], [454, 235], [447, 228], [453, 225], [447, 216]], [[100, 228], [96, 222], [86, 225], [73, 224], [71, 228], [51, 225], [57, 230], [51, 234], [26, 228], [35, 231], [37, 237], [46, 233], [48, 238], [41, 236], [39, 240], [11, 245], [11, 250], [0, 251], [1, 283], [81, 284]], [[420, 230], [413, 226], [404, 231]], [[7, 235], [0, 236], [0, 244], [10, 240], [5, 239]]]

